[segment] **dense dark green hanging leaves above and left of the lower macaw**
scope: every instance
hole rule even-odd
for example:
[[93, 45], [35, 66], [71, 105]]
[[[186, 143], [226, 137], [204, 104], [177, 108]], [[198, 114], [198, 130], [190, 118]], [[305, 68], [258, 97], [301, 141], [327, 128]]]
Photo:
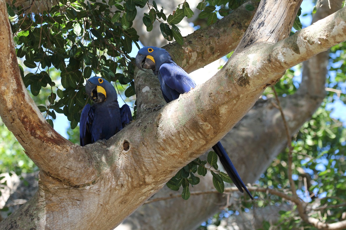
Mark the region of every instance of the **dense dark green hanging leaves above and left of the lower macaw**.
[[[12, 31], [17, 46], [17, 57], [25, 58], [20, 66], [25, 86], [34, 96], [49, 86], [47, 104], [40, 104], [53, 125], [56, 113], [63, 113], [74, 129], [86, 103], [85, 79], [101, 76], [117, 81], [127, 89], [125, 96], [135, 94], [133, 58], [129, 57], [132, 43], [137, 46], [138, 35], [131, 28], [136, 6], [146, 1], [67, 2], [53, 6], [42, 14], [25, 13], [12, 9]], [[12, 13], [13, 12], [13, 13]], [[60, 72], [60, 82], [51, 72]]]

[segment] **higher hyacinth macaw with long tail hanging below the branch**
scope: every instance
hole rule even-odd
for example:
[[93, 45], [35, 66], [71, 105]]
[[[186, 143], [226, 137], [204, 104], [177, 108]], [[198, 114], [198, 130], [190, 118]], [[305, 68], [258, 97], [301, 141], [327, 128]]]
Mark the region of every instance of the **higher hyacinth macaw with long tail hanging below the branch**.
[[[196, 86], [189, 74], [172, 60], [165, 49], [153, 46], [140, 49], [136, 56], [136, 66], [140, 70], [153, 70], [160, 81], [161, 91], [167, 103], [179, 98], [180, 94], [189, 92]], [[245, 189], [253, 200], [221, 143], [217, 142], [212, 148], [239, 191], [244, 192], [243, 189]]]

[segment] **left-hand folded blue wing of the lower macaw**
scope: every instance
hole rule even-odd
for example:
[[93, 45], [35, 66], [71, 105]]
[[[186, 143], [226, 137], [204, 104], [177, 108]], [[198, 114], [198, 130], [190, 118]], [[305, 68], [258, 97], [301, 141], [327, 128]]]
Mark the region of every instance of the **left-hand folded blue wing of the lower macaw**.
[[94, 108], [90, 104], [86, 104], [81, 114], [79, 124], [80, 145], [85, 146], [91, 144], [91, 124], [94, 119]]

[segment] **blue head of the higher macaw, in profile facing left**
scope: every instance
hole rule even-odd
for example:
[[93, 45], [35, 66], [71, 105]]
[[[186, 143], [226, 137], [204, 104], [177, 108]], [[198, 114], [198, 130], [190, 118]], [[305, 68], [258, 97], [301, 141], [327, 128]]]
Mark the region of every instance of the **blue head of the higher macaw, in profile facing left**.
[[159, 69], [163, 63], [172, 61], [170, 54], [155, 46], [143, 47], [136, 56], [136, 66], [140, 69]]

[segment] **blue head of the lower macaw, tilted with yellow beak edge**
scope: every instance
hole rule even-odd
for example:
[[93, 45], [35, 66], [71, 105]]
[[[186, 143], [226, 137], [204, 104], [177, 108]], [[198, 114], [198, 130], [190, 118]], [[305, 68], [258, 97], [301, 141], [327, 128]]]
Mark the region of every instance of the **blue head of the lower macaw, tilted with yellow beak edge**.
[[115, 88], [106, 79], [93, 77], [88, 79], [85, 84], [85, 92], [95, 103], [101, 103], [107, 99], [107, 96], [116, 95]]

